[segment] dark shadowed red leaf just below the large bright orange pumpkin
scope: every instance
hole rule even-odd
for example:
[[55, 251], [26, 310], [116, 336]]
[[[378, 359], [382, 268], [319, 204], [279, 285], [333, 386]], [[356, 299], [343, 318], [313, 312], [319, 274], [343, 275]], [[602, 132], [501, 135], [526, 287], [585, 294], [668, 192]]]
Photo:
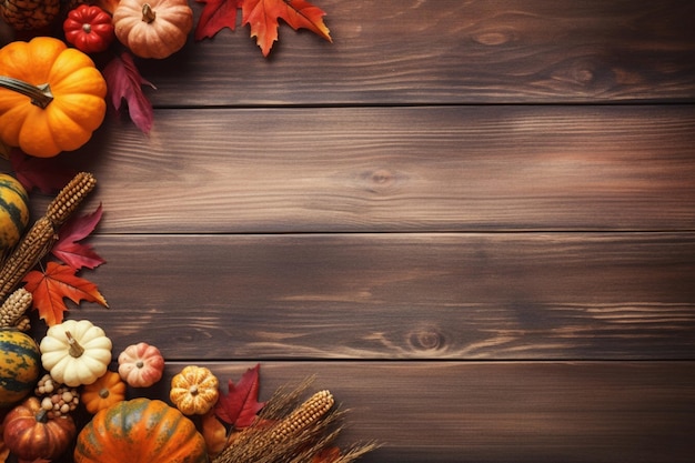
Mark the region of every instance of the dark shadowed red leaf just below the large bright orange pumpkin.
[[74, 169], [63, 165], [60, 159], [27, 155], [19, 148], [10, 153], [12, 170], [22, 187], [27, 191], [37, 188], [44, 194], [60, 191], [77, 173]]

